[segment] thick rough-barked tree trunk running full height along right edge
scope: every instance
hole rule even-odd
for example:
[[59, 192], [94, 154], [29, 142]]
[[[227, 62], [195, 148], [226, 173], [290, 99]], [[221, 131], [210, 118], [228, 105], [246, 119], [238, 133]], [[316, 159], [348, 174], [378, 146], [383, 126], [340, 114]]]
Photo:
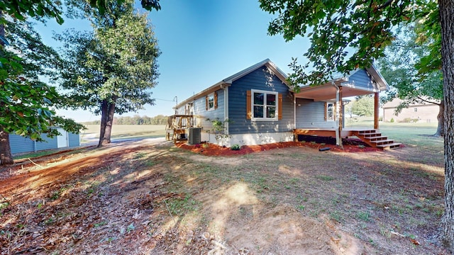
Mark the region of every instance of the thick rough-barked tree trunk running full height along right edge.
[[441, 22], [441, 60], [443, 65], [443, 102], [445, 103], [445, 212], [439, 237], [454, 251], [454, 0], [439, 0]]

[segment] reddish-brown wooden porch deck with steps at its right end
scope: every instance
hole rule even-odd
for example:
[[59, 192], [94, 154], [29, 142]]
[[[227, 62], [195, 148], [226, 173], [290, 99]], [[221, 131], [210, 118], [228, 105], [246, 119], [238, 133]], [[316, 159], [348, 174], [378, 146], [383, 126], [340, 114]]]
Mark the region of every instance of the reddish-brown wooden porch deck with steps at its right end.
[[[298, 135], [314, 135], [321, 137], [336, 137], [335, 129], [318, 129], [318, 128], [298, 128], [294, 130], [294, 137]], [[341, 130], [340, 137], [358, 137], [362, 142], [369, 145], [370, 147], [378, 149], [397, 149], [400, 147], [400, 143], [394, 142], [394, 140], [388, 139], [383, 136], [380, 130], [377, 129], [345, 129]]]

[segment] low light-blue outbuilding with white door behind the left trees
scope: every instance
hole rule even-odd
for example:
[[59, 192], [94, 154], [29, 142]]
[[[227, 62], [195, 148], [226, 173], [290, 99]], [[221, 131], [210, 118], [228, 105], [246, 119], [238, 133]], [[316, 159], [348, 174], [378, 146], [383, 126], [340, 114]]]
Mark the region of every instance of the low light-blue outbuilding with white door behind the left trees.
[[9, 135], [9, 145], [11, 153], [38, 152], [44, 149], [60, 149], [65, 147], [77, 147], [80, 145], [79, 135], [67, 132], [62, 128], [57, 128], [62, 135], [48, 137], [43, 135], [46, 142], [36, 142], [30, 138], [22, 137], [21, 135]]

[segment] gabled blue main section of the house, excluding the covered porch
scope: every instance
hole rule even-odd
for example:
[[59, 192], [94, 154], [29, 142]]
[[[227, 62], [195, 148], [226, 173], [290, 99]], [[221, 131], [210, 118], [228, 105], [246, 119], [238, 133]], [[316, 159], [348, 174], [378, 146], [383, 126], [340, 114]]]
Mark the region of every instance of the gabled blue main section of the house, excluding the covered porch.
[[[294, 102], [286, 78], [264, 60], [182, 101], [177, 114], [196, 115], [201, 140], [218, 145], [293, 141]], [[223, 122], [221, 138], [214, 133], [213, 120]]]

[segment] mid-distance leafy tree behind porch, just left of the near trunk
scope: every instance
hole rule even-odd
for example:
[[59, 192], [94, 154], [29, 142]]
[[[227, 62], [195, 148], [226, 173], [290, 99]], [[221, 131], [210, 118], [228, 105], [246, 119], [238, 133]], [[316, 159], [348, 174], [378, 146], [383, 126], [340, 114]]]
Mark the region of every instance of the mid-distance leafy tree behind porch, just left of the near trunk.
[[439, 52], [429, 56], [433, 54], [431, 42], [427, 39], [419, 40], [420, 36], [415, 30], [418, 32], [421, 28], [414, 24], [402, 27], [397, 39], [385, 50], [386, 56], [378, 60], [381, 74], [393, 88], [382, 97], [382, 101], [402, 99], [396, 113], [414, 103], [438, 105], [438, 128], [435, 135], [440, 136], [443, 135], [443, 75], [439, 67], [428, 69], [424, 65], [421, 68], [421, 62], [426, 62], [428, 57], [439, 61], [441, 56]]

